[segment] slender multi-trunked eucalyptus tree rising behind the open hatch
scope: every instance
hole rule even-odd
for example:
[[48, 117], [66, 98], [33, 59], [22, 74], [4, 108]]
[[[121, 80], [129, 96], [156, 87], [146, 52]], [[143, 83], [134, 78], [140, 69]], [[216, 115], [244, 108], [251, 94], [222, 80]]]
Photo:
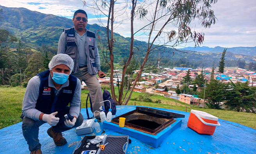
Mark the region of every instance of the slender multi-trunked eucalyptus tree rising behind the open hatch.
[[[204, 33], [193, 30], [195, 27], [191, 27], [192, 23], [199, 21], [201, 27], [210, 28], [212, 24], [215, 24], [216, 19], [211, 5], [215, 4], [217, 0], [93, 0], [92, 2], [93, 5], [91, 7], [101, 12], [103, 15], [98, 16], [100, 17], [99, 21], [102, 23], [103, 17], [107, 17], [107, 24], [105, 24], [104, 27], [107, 29], [107, 50], [111, 69], [110, 85], [112, 97], [117, 105], [123, 103], [126, 105], [128, 103], [133, 89], [144, 71], [144, 67], [149, 58], [154, 57], [155, 53], [159, 53], [161, 57], [174, 55], [174, 51], [178, 51], [176, 47], [183, 43], [194, 42], [195, 46], [199, 46], [204, 41]], [[84, 4], [87, 5], [85, 2]], [[116, 4], [119, 7], [114, 9]], [[127, 7], [128, 5], [129, 7]], [[124, 12], [123, 14], [121, 13], [122, 11], [129, 12], [126, 14], [127, 18], [124, 19], [123, 17], [121, 21], [117, 21], [117, 19], [120, 19], [124, 14]], [[138, 20], [135, 17], [138, 17]], [[113, 49], [115, 40], [113, 31], [114, 26], [117, 27], [117, 25], [122, 24], [126, 19], [130, 20], [131, 41], [130, 55], [123, 66], [123, 79], [134, 54], [134, 36], [147, 35], [146, 42], [148, 45], [129, 96], [127, 98], [123, 97], [124, 80], [122, 80], [119, 89], [119, 98], [117, 100], [113, 84]], [[135, 20], [139, 23], [139, 26], [135, 27], [136, 32], [133, 30]], [[166, 47], [173, 48], [173, 50], [167, 50]], [[160, 56], [157, 56], [158, 60], [161, 58]], [[142, 57], [142, 55], [140, 57]]]

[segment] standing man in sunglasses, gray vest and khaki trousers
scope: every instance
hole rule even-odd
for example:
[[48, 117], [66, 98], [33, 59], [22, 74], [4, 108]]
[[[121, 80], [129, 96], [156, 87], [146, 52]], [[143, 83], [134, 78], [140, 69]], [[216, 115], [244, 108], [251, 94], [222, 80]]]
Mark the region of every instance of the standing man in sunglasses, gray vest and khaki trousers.
[[[100, 83], [96, 74], [105, 76], [100, 70], [100, 57], [95, 33], [87, 30], [87, 14], [84, 10], [77, 10], [73, 16], [74, 27], [65, 29], [60, 35], [58, 54], [66, 53], [74, 60], [72, 74], [84, 81], [89, 88], [93, 112], [100, 111], [104, 103]], [[99, 113], [95, 113], [98, 118]]]

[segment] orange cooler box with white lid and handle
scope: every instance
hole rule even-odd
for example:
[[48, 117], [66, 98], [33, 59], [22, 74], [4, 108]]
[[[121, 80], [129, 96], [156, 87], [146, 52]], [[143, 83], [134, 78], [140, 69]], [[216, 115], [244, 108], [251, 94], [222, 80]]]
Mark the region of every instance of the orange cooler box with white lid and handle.
[[199, 134], [213, 135], [216, 126], [220, 126], [218, 117], [209, 113], [191, 110], [188, 118], [188, 127]]

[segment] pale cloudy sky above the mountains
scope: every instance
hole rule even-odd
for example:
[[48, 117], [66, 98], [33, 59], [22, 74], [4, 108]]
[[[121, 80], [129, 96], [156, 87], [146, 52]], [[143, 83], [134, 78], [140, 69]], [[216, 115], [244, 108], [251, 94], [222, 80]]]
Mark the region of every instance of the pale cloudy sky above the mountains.
[[[92, 8], [92, 0], [85, 0], [86, 5], [81, 0], [1, 0], [0, 5], [5, 7], [25, 7], [32, 11], [38, 11], [45, 14], [54, 14], [57, 16], [63, 16], [66, 18], [73, 18], [73, 14], [77, 9], [84, 9], [88, 14], [88, 23], [97, 23], [98, 25], [105, 25], [106, 18], [101, 16], [101, 22], [98, 21], [96, 16], [100, 16], [100, 11]], [[116, 25], [114, 32], [123, 35], [124, 37], [130, 37], [130, 4], [126, 10], [122, 10], [125, 7], [125, 0], [117, 0], [115, 8], [121, 11], [116, 12], [118, 17], [116, 18]], [[143, 3], [143, 1], [140, 1]], [[194, 21], [190, 28], [193, 28], [197, 32], [204, 32], [204, 42], [201, 46], [208, 47], [238, 47], [256, 46], [256, 0], [218, 0], [216, 4], [212, 5], [215, 17], [218, 19], [215, 25], [211, 28], [204, 29], [200, 27], [198, 21]], [[105, 12], [101, 9], [102, 12]], [[151, 12], [151, 8], [148, 8]], [[150, 14], [150, 13], [149, 13]], [[122, 22], [120, 22], [122, 21]], [[161, 25], [159, 21], [159, 26]], [[148, 20], [134, 20], [134, 32], [142, 28], [148, 23]], [[156, 26], [156, 28], [159, 28]], [[168, 25], [165, 30], [175, 30], [175, 26]], [[147, 34], [147, 33], [145, 33]], [[148, 36], [143, 31], [136, 34], [135, 39], [140, 41], [147, 41]], [[158, 40], [159, 44], [164, 43], [162, 40]], [[192, 43], [182, 44], [177, 48], [183, 48], [187, 46], [193, 46]]]

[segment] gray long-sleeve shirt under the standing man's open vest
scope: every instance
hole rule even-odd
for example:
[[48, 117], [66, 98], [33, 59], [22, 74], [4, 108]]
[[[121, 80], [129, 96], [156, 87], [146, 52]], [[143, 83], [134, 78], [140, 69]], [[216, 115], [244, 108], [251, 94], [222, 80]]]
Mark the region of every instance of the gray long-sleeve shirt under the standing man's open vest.
[[[87, 29], [85, 28], [85, 31], [87, 31]], [[84, 33], [82, 36], [75, 30], [75, 39], [77, 41], [77, 48], [78, 48], [78, 52], [79, 52], [79, 56], [78, 56], [78, 66], [79, 67], [83, 67], [87, 65], [87, 55], [85, 53], [85, 42], [87, 41], [86, 38], [86, 33]], [[99, 51], [98, 51], [98, 46], [97, 46], [97, 42], [95, 41], [94, 44], [94, 62], [95, 65], [98, 69], [98, 71], [100, 70], [100, 56], [99, 56]], [[58, 54], [59, 53], [65, 53], [66, 52], [66, 35], [65, 32], [63, 32], [60, 35], [60, 39], [59, 39], [59, 43], [58, 43]]]

